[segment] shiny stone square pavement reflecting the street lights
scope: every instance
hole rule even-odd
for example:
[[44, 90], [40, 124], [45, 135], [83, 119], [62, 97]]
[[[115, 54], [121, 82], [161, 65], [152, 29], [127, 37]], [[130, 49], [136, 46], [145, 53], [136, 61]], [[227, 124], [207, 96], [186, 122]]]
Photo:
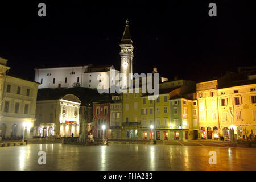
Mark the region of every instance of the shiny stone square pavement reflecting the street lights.
[[[42, 150], [46, 165], [38, 164]], [[216, 151], [216, 165], [209, 164], [209, 151]], [[0, 170], [256, 170], [255, 152], [218, 146], [33, 144], [0, 148]]]

